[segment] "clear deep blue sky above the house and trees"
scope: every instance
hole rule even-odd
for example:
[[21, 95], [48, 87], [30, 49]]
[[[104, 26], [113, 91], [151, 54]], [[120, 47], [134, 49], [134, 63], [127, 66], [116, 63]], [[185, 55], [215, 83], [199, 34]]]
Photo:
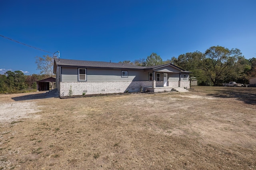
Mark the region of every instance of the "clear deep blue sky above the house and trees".
[[[0, 35], [60, 58], [163, 60], [220, 45], [256, 58], [256, 0], [1, 0]], [[52, 54], [0, 37], [0, 74]]]

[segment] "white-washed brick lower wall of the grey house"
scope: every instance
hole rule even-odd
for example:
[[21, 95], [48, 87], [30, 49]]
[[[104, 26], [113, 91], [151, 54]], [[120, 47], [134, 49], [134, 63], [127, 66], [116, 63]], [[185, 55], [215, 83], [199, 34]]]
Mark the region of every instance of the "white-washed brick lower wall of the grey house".
[[[178, 82], [168, 82], [169, 86], [163, 87], [163, 81], [156, 82], [156, 88], [153, 92], [171, 91], [172, 87]], [[188, 85], [184, 84], [189, 88]], [[146, 91], [149, 87], [152, 88], [152, 81], [133, 81], [133, 82], [60, 82], [58, 93], [60, 96], [82, 95], [85, 94], [110, 94], [110, 93], [125, 93], [125, 92], [141, 92]], [[183, 86], [182, 86], [183, 87]]]

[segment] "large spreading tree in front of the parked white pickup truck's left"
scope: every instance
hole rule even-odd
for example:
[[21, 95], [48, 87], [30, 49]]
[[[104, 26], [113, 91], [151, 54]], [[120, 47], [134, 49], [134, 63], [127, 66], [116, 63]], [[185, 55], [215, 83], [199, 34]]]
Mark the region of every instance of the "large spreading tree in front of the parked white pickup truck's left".
[[234, 70], [235, 63], [241, 56], [239, 49], [229, 50], [221, 46], [212, 46], [205, 51], [200, 67], [210, 78], [212, 85], [217, 86]]

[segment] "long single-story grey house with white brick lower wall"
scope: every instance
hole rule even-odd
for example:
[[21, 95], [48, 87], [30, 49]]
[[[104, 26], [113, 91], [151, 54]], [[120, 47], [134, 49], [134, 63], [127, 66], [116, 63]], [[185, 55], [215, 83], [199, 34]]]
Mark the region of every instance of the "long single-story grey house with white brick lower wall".
[[189, 71], [173, 64], [132, 64], [54, 59], [56, 88], [60, 96], [124, 92], [163, 92], [190, 88]]

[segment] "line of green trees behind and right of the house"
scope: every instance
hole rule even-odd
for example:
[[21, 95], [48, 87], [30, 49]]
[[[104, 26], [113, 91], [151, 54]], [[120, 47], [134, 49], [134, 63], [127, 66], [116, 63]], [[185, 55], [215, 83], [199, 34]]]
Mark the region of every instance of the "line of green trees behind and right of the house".
[[119, 63], [138, 66], [174, 64], [191, 71], [190, 78], [196, 78], [198, 85], [221, 86], [222, 82], [236, 81], [249, 84], [249, 78], [256, 76], [256, 58], [245, 59], [239, 49], [212, 46], [204, 53], [195, 51], [172, 57], [163, 61], [159, 55], [152, 53], [146, 59], [120, 61]]

